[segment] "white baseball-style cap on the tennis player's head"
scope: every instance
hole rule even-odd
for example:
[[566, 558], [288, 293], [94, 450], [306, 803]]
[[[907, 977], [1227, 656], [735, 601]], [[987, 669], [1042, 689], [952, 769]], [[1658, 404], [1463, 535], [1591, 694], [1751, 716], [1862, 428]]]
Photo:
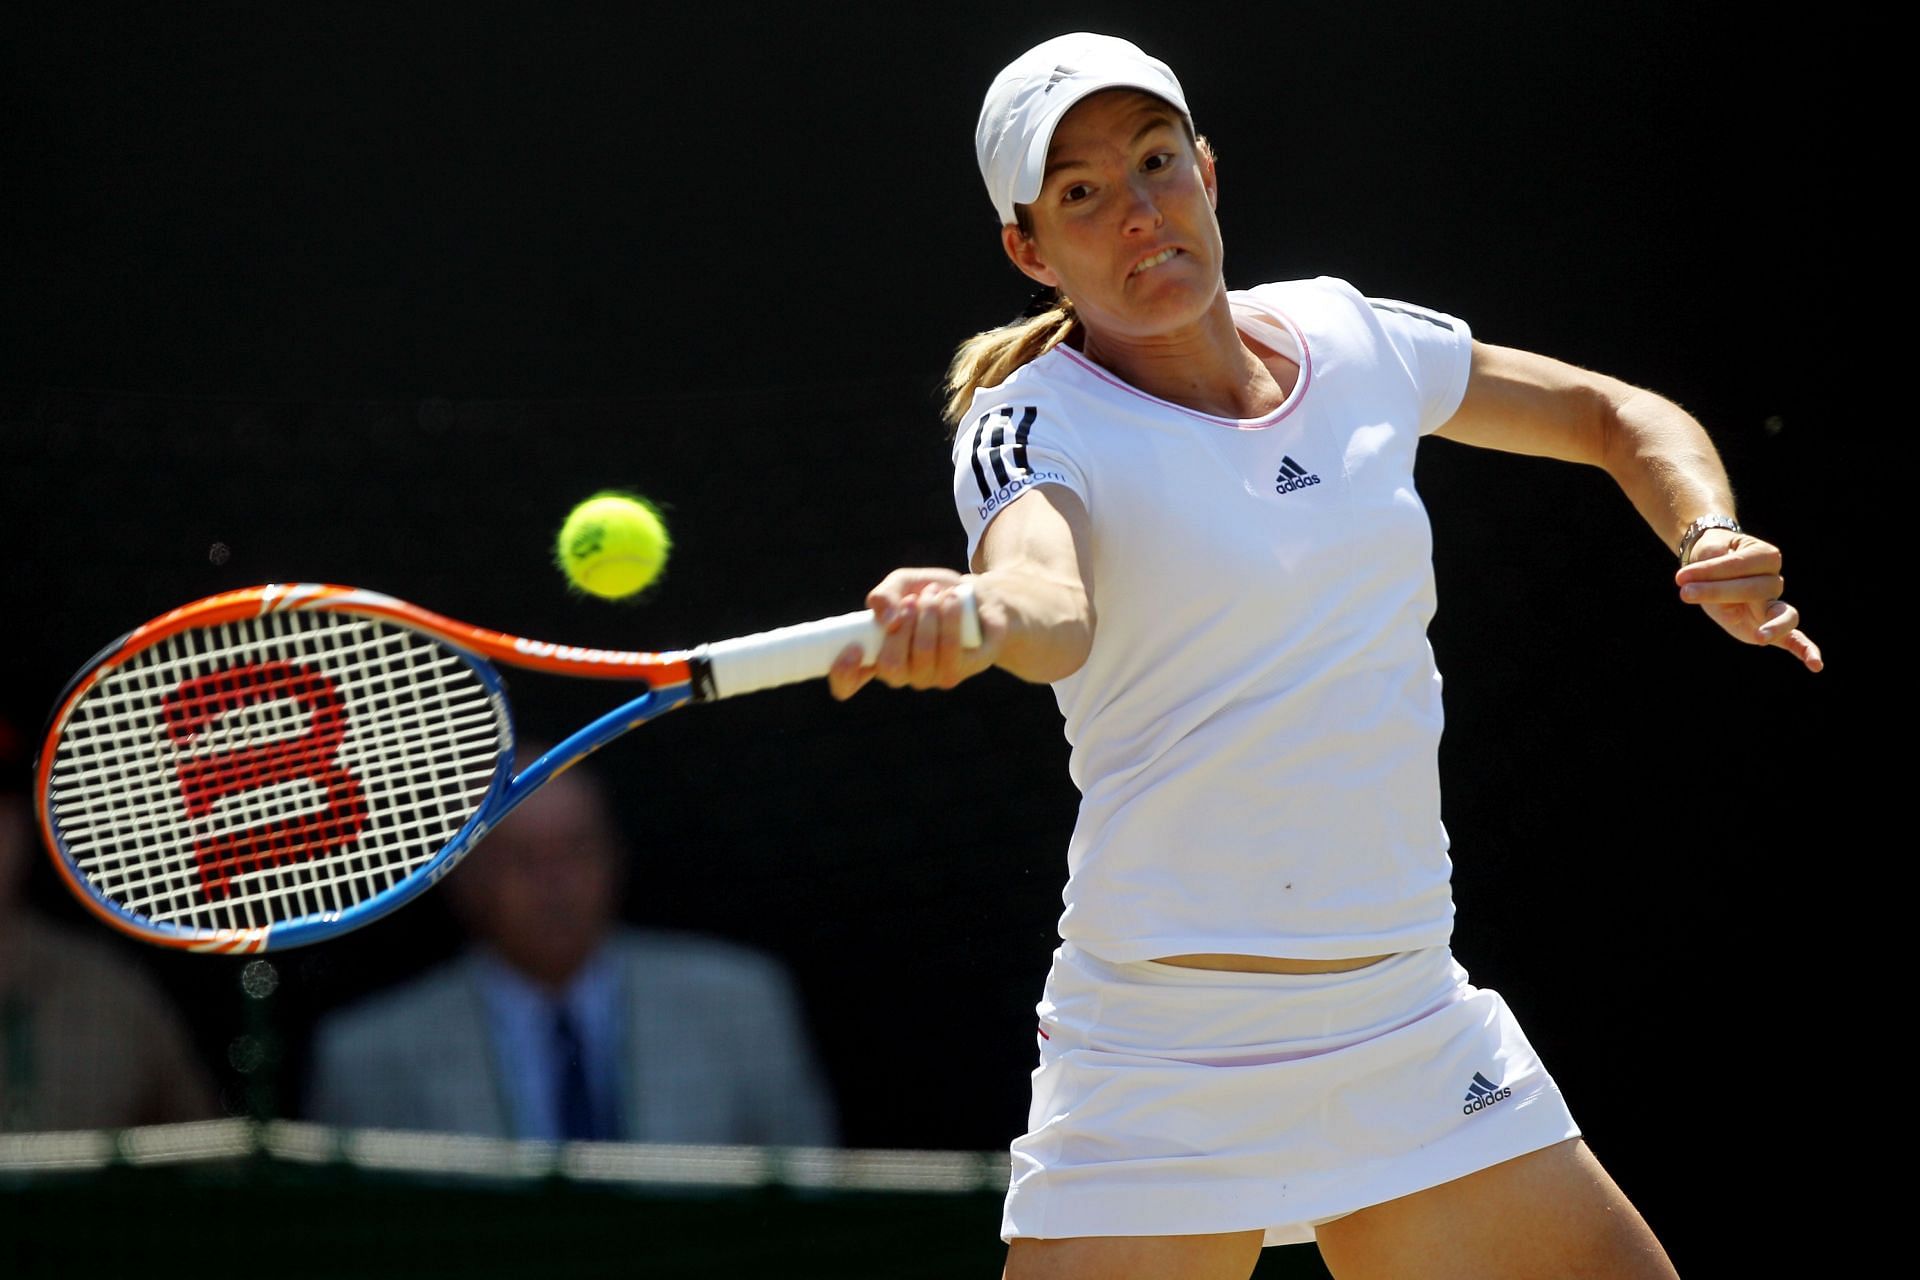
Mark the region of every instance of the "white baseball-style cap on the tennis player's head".
[[979, 177], [987, 180], [1000, 223], [1014, 221], [1014, 205], [1039, 200], [1054, 127], [1075, 102], [1102, 88], [1139, 88], [1165, 98], [1192, 127], [1173, 69], [1137, 44], [1091, 31], [1035, 44], [993, 77], [973, 129]]

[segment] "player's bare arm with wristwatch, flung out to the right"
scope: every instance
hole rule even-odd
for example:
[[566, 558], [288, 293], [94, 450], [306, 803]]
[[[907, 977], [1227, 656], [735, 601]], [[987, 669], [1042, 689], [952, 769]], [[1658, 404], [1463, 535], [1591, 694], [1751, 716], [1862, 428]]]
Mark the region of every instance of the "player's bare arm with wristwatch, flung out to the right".
[[[1440, 436], [1467, 445], [1599, 466], [1672, 549], [1699, 516], [1736, 516], [1734, 487], [1707, 430], [1670, 399], [1530, 351], [1473, 345], [1473, 372]], [[1674, 574], [1680, 599], [1730, 635], [1774, 645], [1807, 670], [1820, 647], [1780, 599], [1780, 549], [1753, 533], [1707, 530]]]

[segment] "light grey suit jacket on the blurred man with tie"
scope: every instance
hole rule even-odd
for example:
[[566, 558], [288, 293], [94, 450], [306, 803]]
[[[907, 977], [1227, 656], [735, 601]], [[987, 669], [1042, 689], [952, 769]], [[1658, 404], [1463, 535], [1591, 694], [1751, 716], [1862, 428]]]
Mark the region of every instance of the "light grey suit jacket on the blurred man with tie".
[[[799, 1000], [772, 958], [699, 935], [620, 931], [632, 1142], [833, 1146], [835, 1117]], [[513, 1138], [474, 958], [315, 1029], [307, 1115], [323, 1125]]]

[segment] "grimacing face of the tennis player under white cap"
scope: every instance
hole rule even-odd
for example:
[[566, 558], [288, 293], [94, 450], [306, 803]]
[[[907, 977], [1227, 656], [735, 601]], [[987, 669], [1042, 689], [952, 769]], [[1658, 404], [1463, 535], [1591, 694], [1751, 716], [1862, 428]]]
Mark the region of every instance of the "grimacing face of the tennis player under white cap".
[[1213, 165], [1179, 113], [1150, 94], [1106, 90], [1054, 129], [1031, 236], [1008, 255], [1073, 299], [1094, 334], [1152, 338], [1192, 324], [1223, 286]]

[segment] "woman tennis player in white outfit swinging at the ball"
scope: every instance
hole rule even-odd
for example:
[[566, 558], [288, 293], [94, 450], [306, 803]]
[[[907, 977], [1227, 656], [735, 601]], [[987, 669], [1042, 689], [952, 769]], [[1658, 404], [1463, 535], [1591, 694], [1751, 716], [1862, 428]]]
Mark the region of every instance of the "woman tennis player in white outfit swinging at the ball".
[[1225, 286], [1173, 71], [1069, 35], [977, 152], [1056, 303], [964, 344], [958, 574], [870, 595], [870, 679], [1052, 683], [1081, 810], [1014, 1142], [1010, 1280], [1672, 1276], [1501, 998], [1453, 961], [1421, 436], [1605, 468], [1676, 585], [1820, 670], [1780, 551], [1670, 401], [1334, 278]]

